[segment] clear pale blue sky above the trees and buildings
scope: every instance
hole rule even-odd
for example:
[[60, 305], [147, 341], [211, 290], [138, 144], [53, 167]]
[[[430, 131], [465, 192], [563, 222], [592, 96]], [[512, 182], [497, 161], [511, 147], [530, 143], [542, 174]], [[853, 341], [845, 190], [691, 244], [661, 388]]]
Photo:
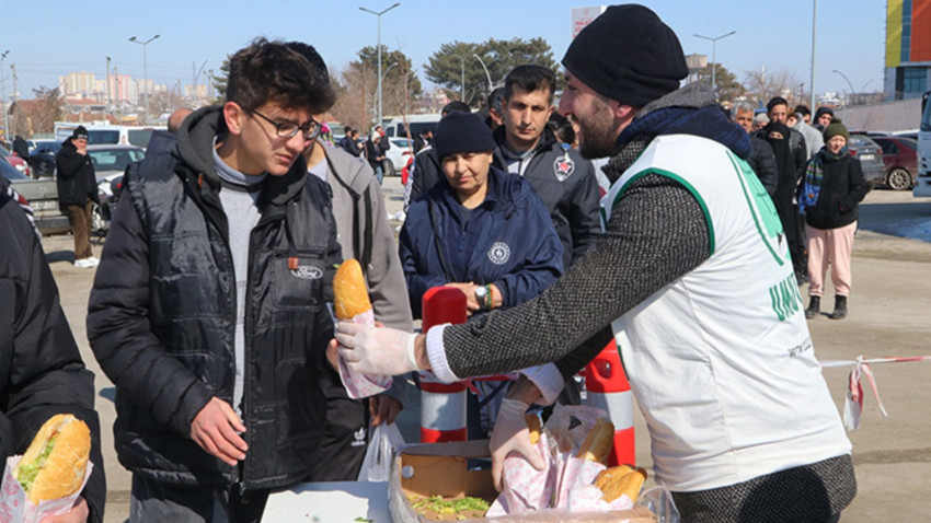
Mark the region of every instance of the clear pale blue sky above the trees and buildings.
[[[337, 69], [356, 51], [377, 42], [377, 18], [359, 11], [381, 11], [393, 0], [177, 1], [87, 0], [83, 2], [0, 0], [4, 31], [0, 51], [5, 90], [12, 90], [10, 65], [16, 65], [18, 90], [57, 86], [58, 77], [89, 71], [105, 78], [106, 57], [119, 73], [142, 77], [142, 47], [148, 45], [148, 73], [157, 83], [191, 83], [193, 66], [218, 69], [228, 54], [255, 36], [299, 39], [318, 48]], [[812, 59], [813, 0], [644, 0], [679, 35], [686, 54], [712, 55], [712, 44], [694, 33], [717, 36], [717, 61], [743, 80], [749, 70], [790, 71], [808, 90]], [[401, 0], [381, 20], [381, 40], [400, 48], [418, 70], [440, 44], [495, 38], [544, 37], [559, 61], [570, 43], [570, 10], [596, 5], [555, 0]], [[882, 90], [885, 46], [885, 2], [820, 0], [817, 2], [815, 84], [818, 93], [849, 91], [832, 70], [843, 72], [855, 90]], [[425, 81], [423, 74], [419, 74]], [[202, 80], [203, 82], [203, 80]]]

